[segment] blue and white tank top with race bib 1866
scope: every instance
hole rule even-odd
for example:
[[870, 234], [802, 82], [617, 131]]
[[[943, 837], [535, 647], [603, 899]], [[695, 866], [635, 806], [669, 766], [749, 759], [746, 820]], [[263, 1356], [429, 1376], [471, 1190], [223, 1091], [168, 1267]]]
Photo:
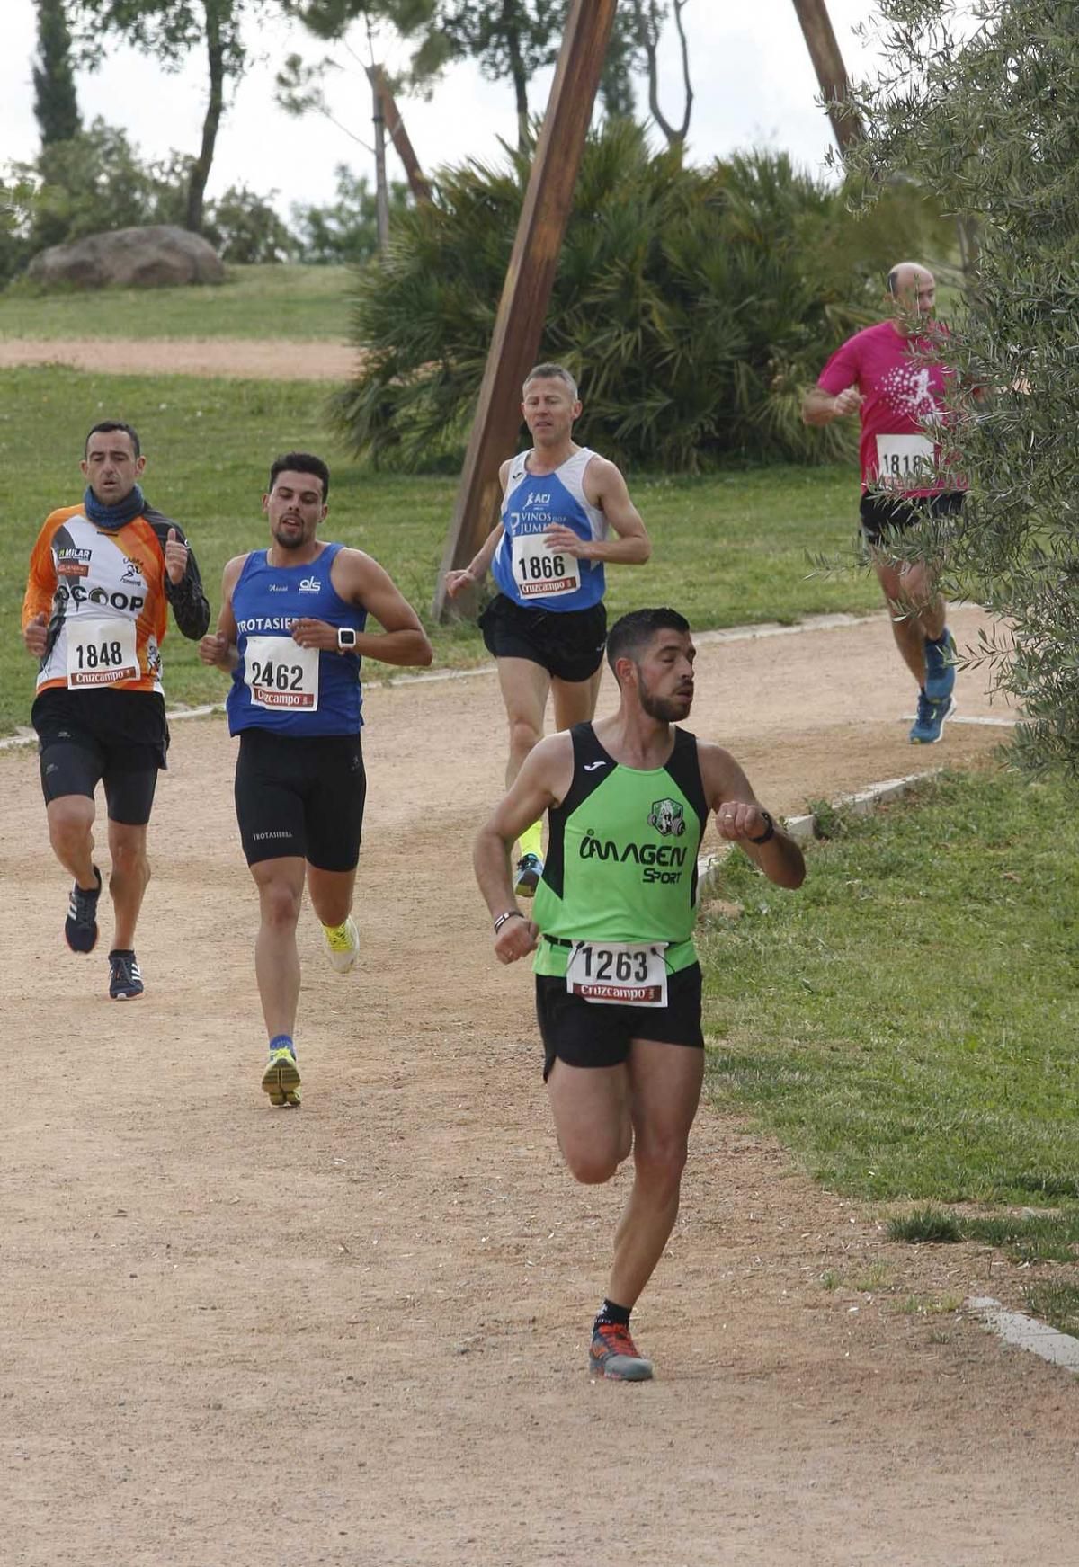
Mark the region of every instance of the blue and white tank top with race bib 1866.
[[582, 447], [554, 473], [541, 475], [529, 473], [530, 454], [521, 451], [510, 464], [491, 575], [525, 610], [591, 610], [604, 597], [604, 563], [558, 555], [543, 536], [560, 522], [590, 542], [607, 537], [607, 519], [585, 497], [585, 469], [594, 453]]

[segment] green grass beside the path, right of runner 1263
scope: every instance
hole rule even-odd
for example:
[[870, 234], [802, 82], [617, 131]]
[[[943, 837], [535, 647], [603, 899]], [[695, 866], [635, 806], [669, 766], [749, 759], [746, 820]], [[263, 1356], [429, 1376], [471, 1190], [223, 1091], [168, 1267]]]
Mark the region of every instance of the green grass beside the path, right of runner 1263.
[[742, 917], [701, 943], [714, 1098], [850, 1196], [1074, 1203], [1077, 852], [1060, 785], [986, 769], [845, 818], [797, 893], [732, 856]]

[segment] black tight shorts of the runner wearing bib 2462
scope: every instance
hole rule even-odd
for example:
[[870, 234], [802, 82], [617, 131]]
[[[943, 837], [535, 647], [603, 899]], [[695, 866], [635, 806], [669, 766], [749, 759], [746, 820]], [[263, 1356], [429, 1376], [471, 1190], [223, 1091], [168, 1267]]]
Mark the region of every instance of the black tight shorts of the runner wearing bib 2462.
[[235, 805], [248, 865], [295, 854], [320, 871], [356, 870], [365, 798], [359, 735], [240, 732]]

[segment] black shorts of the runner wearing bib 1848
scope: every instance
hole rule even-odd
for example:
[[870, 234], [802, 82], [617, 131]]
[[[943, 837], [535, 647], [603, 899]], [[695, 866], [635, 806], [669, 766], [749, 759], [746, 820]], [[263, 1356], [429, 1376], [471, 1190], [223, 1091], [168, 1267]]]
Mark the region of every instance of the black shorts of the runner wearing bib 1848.
[[35, 700], [41, 791], [93, 799], [105, 787], [108, 820], [144, 827], [158, 769], [165, 766], [165, 702], [152, 691], [66, 691], [50, 686]]

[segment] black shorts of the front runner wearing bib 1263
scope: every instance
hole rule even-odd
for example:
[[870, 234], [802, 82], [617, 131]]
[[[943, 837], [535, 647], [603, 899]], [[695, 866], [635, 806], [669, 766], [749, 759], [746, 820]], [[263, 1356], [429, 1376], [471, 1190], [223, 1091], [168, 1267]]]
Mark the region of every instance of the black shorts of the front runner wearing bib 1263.
[[701, 1033], [701, 965], [690, 964], [667, 979], [667, 1006], [609, 1006], [571, 995], [566, 981], [536, 975], [536, 1017], [543, 1034], [543, 1080], [555, 1061], [569, 1067], [616, 1067], [634, 1039], [704, 1048]]

